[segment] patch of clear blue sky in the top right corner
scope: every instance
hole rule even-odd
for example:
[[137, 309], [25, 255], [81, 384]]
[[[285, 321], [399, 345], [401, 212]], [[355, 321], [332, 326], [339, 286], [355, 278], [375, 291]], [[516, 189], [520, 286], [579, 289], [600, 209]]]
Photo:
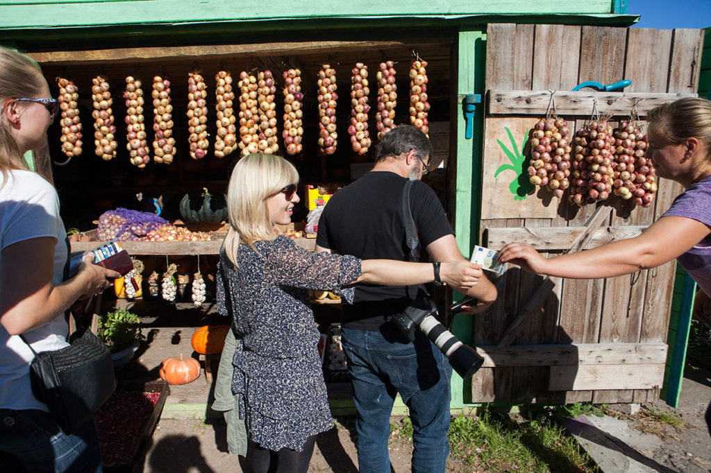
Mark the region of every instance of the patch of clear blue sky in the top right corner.
[[711, 0], [628, 0], [627, 13], [641, 15], [641, 28], [708, 28]]

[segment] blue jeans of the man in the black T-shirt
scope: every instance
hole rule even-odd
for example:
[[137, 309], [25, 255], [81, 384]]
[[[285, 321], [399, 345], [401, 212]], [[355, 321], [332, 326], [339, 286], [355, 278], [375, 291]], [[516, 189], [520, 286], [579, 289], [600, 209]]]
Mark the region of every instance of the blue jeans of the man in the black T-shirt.
[[344, 328], [342, 334], [358, 410], [360, 472], [390, 472], [387, 440], [397, 393], [410, 409], [414, 430], [412, 472], [444, 472], [451, 398], [447, 358], [421, 332], [414, 343], [395, 332]]

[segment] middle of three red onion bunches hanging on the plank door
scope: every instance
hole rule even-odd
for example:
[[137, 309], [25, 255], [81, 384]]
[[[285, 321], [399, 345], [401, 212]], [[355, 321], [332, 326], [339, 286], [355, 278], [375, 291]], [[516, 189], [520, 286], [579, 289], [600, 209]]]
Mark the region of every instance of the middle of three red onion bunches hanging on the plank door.
[[572, 191], [570, 202], [584, 205], [587, 198], [606, 200], [612, 191], [614, 156], [612, 127], [593, 120], [575, 132]]

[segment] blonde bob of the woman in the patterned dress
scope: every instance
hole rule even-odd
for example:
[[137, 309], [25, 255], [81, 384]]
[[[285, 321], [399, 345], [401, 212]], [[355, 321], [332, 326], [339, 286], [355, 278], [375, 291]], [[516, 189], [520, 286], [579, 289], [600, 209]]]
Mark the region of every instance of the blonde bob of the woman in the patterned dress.
[[230, 176], [227, 205], [230, 229], [223, 248], [237, 267], [240, 243], [272, 241], [274, 221], [269, 215], [267, 200], [289, 184], [299, 182], [299, 173], [292, 163], [280, 156], [250, 154], [237, 162]]

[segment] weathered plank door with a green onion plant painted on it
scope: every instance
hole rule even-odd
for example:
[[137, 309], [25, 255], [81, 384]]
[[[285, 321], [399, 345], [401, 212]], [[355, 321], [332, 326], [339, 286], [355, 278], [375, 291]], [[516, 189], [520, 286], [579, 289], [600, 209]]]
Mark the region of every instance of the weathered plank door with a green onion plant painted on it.
[[[499, 47], [487, 50], [484, 246], [528, 241], [560, 253], [574, 246], [594, 217], [591, 241], [583, 246], [594, 247], [637, 234], [668, 208], [681, 189], [666, 180], [659, 181], [648, 208], [619, 197], [597, 206], [571, 205], [518, 180], [529, 165], [522, 152], [535, 119], [552, 112], [554, 101], [557, 114], [579, 129], [594, 111], [619, 121], [636, 108], [643, 119], [659, 103], [695, 95], [702, 31], [497, 24], [488, 27], [487, 38]], [[631, 81], [624, 92], [570, 92], [586, 81], [620, 80]], [[674, 271], [672, 262], [630, 276], [550, 283], [509, 269], [496, 308], [476, 331], [478, 344], [495, 345], [485, 350], [489, 366], [496, 367], [476, 375], [474, 401], [657, 398]]]

